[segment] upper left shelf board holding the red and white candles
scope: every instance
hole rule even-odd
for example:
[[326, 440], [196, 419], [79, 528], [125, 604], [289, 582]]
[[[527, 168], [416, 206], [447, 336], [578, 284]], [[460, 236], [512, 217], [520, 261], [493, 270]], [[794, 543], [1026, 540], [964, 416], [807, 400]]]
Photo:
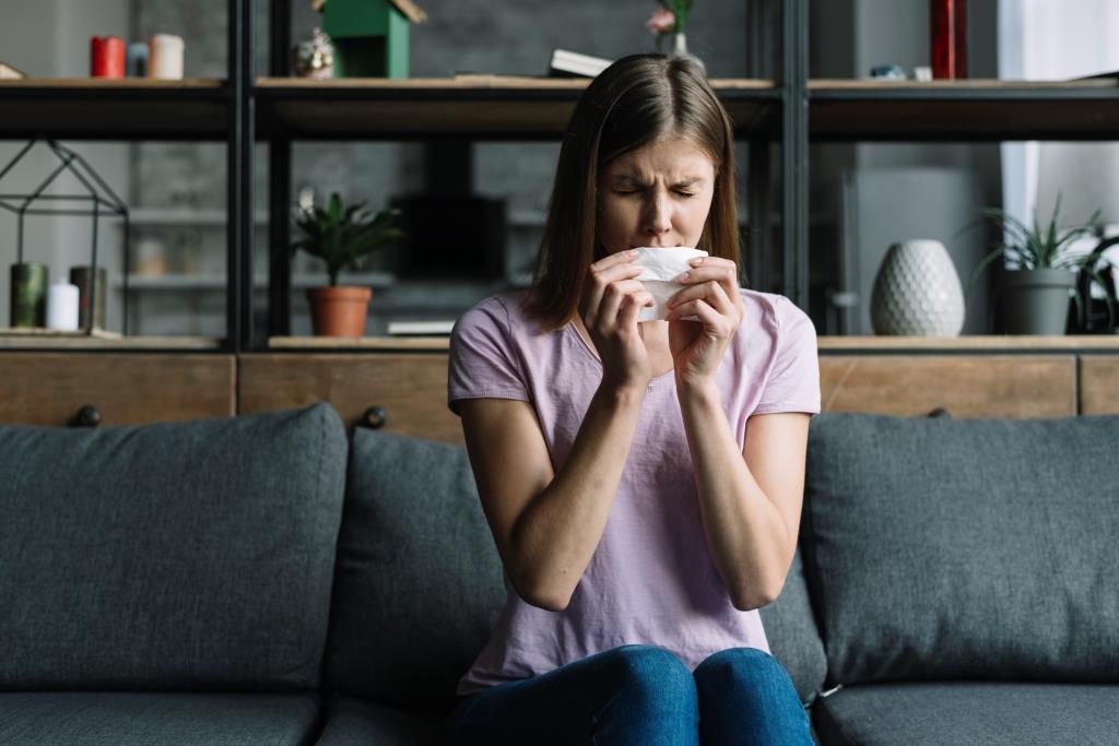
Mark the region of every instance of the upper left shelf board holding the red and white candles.
[[0, 138], [225, 140], [224, 81], [0, 81]]

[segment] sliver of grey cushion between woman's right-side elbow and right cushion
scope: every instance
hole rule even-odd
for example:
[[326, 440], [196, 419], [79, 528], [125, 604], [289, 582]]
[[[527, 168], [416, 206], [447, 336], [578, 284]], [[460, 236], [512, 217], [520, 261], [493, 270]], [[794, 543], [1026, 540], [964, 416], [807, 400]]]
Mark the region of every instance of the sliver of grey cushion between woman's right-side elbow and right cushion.
[[824, 686], [828, 660], [812, 618], [799, 549], [793, 555], [781, 595], [759, 613], [770, 652], [789, 672], [800, 701], [811, 703]]

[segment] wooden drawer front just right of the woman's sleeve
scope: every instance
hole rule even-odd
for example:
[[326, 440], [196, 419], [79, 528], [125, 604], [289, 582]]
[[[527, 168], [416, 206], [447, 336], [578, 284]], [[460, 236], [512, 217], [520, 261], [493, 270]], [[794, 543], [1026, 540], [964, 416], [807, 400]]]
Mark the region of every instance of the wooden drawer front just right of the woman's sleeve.
[[900, 416], [1073, 417], [1072, 355], [820, 355], [822, 408]]

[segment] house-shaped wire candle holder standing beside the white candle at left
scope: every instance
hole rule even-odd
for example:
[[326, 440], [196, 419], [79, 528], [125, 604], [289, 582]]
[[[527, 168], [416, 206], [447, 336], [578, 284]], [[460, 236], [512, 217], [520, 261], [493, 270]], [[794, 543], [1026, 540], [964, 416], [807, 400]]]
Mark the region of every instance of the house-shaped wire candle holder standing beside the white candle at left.
[[[28, 193], [8, 193], [3, 190], [3, 179], [19, 163], [28, 152], [39, 142], [56, 157], [55, 163], [44, 177], [41, 183]], [[45, 193], [50, 185], [55, 183], [63, 173], [70, 173], [82, 186], [82, 193], [47, 195]], [[0, 209], [6, 209], [17, 215], [17, 238], [16, 238], [16, 264], [11, 271], [13, 285], [17, 277], [23, 277], [29, 270], [26, 267], [34, 263], [28, 262], [23, 254], [23, 227], [28, 216], [31, 215], [76, 215], [91, 218], [91, 240], [90, 240], [90, 277], [97, 277], [97, 225], [102, 217], [119, 217], [124, 220], [122, 232], [123, 254], [124, 254], [124, 313], [122, 330], [128, 334], [129, 329], [129, 208], [124, 201], [105, 183], [104, 179], [86, 162], [84, 158], [73, 150], [60, 145], [54, 140], [31, 140], [13, 159], [0, 169]], [[17, 270], [17, 267], [19, 267]], [[103, 272], [103, 271], [102, 271]], [[44, 273], [45, 274], [45, 273]], [[43, 281], [45, 282], [45, 280]], [[12, 287], [12, 296], [17, 295], [17, 287]], [[104, 294], [104, 283], [88, 283], [88, 299], [83, 298], [82, 304], [88, 309], [98, 308], [97, 294]], [[26, 300], [26, 299], [25, 299]], [[15, 306], [13, 306], [15, 308]], [[15, 313], [15, 312], [13, 312]], [[21, 312], [21, 321], [26, 320], [27, 313]], [[36, 323], [38, 317], [36, 317]], [[79, 330], [86, 336], [92, 336], [94, 329], [103, 328], [104, 319], [95, 313], [85, 314], [84, 323]], [[12, 321], [12, 325], [26, 325]]]

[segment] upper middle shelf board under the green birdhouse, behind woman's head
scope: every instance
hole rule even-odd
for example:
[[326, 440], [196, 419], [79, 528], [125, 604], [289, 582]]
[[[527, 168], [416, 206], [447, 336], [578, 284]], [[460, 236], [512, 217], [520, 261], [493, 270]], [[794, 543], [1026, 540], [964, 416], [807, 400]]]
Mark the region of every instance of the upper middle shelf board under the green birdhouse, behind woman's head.
[[[563, 136], [585, 78], [467, 75], [454, 78], [260, 78], [262, 138], [551, 140]], [[772, 81], [713, 79], [740, 134], [768, 122]]]

